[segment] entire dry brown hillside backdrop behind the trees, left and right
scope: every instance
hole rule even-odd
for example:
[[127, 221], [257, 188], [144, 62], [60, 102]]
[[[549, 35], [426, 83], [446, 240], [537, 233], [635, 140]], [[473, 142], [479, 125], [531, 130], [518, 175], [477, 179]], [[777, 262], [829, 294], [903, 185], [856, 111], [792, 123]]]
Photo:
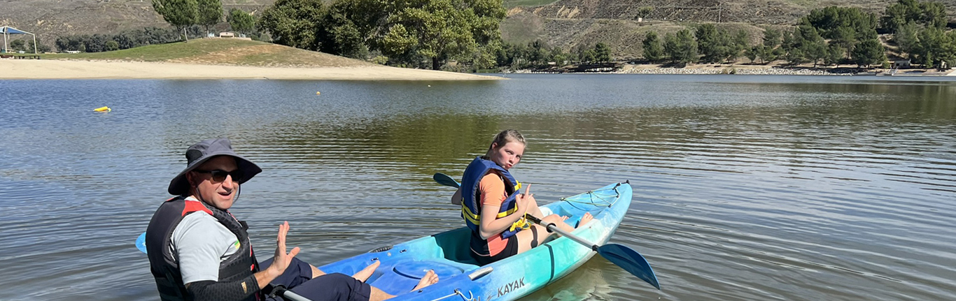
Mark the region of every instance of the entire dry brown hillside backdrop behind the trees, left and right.
[[[881, 13], [896, 0], [507, 0], [502, 37], [511, 43], [536, 39], [566, 50], [577, 45], [608, 43], [613, 55], [636, 57], [648, 30], [666, 33], [698, 22], [758, 32], [766, 26], [790, 26], [810, 10], [828, 6], [855, 7]], [[224, 10], [262, 10], [273, 0], [223, 0]], [[956, 0], [940, 0], [956, 20]], [[167, 27], [149, 0], [0, 0], [0, 24], [37, 33], [53, 46], [56, 36], [116, 33], [143, 27]], [[655, 8], [649, 22], [637, 22], [637, 10]], [[221, 24], [218, 29], [225, 30]]]

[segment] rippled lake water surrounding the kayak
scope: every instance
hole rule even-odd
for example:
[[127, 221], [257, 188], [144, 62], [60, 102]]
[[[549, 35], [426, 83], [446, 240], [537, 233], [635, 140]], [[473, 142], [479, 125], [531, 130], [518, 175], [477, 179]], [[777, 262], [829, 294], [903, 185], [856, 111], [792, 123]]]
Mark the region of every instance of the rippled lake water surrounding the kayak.
[[317, 266], [461, 227], [431, 175], [504, 129], [539, 202], [630, 180], [611, 242], [663, 287], [596, 256], [525, 300], [956, 299], [954, 77], [508, 76], [0, 81], [0, 299], [158, 300], [133, 242], [199, 140], [265, 170], [259, 253], [288, 220]]

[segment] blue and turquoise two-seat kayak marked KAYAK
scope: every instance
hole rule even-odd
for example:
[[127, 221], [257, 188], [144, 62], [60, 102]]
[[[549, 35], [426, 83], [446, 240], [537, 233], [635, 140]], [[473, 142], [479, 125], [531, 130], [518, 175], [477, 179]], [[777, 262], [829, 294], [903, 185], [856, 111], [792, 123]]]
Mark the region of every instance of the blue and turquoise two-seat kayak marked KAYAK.
[[[603, 245], [631, 206], [631, 193], [629, 184], [615, 183], [562, 198], [541, 210], [570, 216], [566, 221], [570, 225], [576, 225], [584, 212], [591, 212], [594, 220], [572, 234]], [[353, 274], [379, 260], [380, 267], [366, 282], [396, 295], [392, 300], [515, 300], [575, 271], [596, 253], [569, 238], [558, 237], [532, 251], [482, 267], [469, 255], [469, 231], [463, 227], [425, 236], [319, 269]], [[411, 291], [428, 270], [438, 274], [439, 282]]]

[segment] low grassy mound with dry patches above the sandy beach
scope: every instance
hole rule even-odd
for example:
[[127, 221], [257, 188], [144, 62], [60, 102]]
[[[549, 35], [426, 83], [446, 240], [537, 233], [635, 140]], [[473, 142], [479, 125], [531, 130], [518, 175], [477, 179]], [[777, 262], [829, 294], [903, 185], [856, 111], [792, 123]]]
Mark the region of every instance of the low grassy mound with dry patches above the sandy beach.
[[262, 67], [355, 67], [371, 63], [328, 53], [239, 39], [198, 39], [128, 50], [43, 54], [43, 59], [123, 60]]

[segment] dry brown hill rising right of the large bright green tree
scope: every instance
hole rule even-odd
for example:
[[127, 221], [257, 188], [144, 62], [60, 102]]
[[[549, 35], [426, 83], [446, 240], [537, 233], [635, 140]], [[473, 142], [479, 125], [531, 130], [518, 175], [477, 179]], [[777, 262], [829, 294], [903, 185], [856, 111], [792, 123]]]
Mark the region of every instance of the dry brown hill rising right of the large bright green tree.
[[[853, 7], [878, 15], [896, 0], [558, 0], [537, 7], [514, 6], [534, 0], [511, 0], [502, 22], [502, 38], [511, 43], [542, 39], [566, 50], [576, 45], [604, 42], [612, 56], [637, 57], [649, 30], [675, 32], [686, 25], [719, 22], [718, 27], [750, 32], [753, 43], [766, 27], [792, 26], [810, 10], [829, 6]], [[956, 0], [941, 0], [950, 20], [956, 20]], [[644, 22], [638, 9], [653, 7]], [[950, 21], [953, 22], [953, 21]]]

